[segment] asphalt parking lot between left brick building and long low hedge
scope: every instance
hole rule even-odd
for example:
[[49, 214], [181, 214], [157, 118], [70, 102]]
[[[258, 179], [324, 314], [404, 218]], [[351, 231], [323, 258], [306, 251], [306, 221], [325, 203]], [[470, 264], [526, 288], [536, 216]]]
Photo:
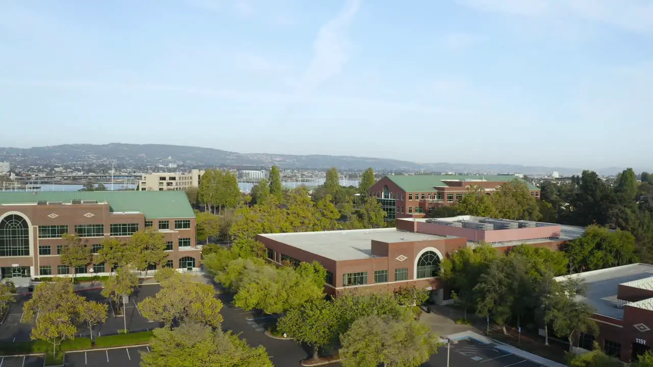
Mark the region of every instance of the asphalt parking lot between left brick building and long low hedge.
[[[141, 285], [136, 288], [134, 293], [129, 297], [129, 304], [125, 306], [124, 315], [115, 315], [112, 308], [108, 308], [108, 317], [101, 325], [93, 328], [95, 336], [118, 334], [118, 330], [125, 328], [125, 317], [127, 318], [127, 328], [131, 332], [147, 331], [152, 328], [160, 327], [162, 324], [153, 322], [140, 314], [138, 302], [148, 296], [156, 295], [159, 291], [159, 285]], [[94, 300], [109, 304], [110, 300], [101, 295], [101, 289], [78, 292], [78, 295], [85, 296], [87, 300]], [[32, 325], [21, 323], [23, 317], [23, 305], [31, 296], [19, 296], [16, 302], [12, 303], [5, 321], [0, 325], [0, 340], [3, 342], [27, 342]], [[80, 327], [78, 337], [88, 338], [88, 328]]]

